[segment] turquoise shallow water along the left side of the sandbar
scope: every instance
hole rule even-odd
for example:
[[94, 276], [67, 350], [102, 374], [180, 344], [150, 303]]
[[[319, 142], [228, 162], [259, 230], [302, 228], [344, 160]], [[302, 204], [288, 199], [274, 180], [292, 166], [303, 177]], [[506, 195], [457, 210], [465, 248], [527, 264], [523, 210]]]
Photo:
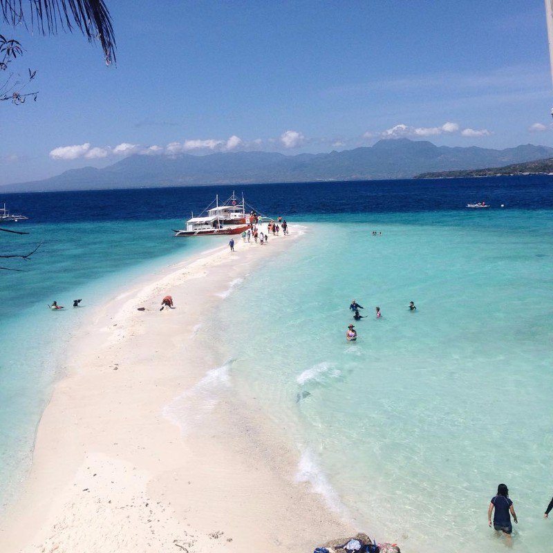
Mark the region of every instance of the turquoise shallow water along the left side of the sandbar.
[[[79, 323], [144, 274], [224, 243], [174, 240], [171, 226], [180, 223], [27, 224], [10, 228], [28, 236], [0, 233], [3, 251], [29, 252], [42, 243], [31, 261], [10, 264], [26, 272], [0, 273], [0, 510], [30, 467], [40, 415], [64, 375], [66, 345]], [[73, 299], [82, 299], [79, 308]], [[46, 308], [54, 300], [65, 308]]]

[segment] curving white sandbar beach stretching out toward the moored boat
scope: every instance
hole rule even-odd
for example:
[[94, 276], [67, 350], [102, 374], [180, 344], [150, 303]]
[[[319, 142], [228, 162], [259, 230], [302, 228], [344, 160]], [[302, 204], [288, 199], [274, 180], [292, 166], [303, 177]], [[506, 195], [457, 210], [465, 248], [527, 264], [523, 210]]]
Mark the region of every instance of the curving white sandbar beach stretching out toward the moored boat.
[[[310, 484], [283, 429], [231, 400], [202, 321], [256, 263], [299, 233], [225, 244], [106, 301], [71, 340], [24, 491], [1, 522], [3, 553], [309, 552], [354, 534]], [[160, 312], [166, 294], [174, 309]], [[144, 307], [144, 311], [138, 308]], [[240, 329], [232, 327], [229, 332]], [[182, 412], [181, 412], [182, 411]], [[185, 426], [176, 424], [186, 422]]]

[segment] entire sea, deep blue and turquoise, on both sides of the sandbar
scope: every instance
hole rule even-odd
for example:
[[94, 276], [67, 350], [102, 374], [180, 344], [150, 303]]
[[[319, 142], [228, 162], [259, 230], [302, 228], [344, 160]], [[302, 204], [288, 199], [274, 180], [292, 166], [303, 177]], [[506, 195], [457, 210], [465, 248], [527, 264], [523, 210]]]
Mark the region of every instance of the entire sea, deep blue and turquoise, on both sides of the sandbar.
[[[505, 481], [521, 520], [514, 547], [547, 550], [547, 176], [0, 196], [11, 212], [29, 217], [3, 224], [29, 234], [0, 232], [0, 254], [41, 244], [28, 261], [0, 259], [0, 266], [24, 270], [0, 270], [2, 504], [28, 470], [73, 329], [144, 272], [223, 245], [224, 237], [173, 238], [171, 229], [233, 190], [259, 212], [284, 216], [292, 229], [308, 226], [284, 258], [233, 289], [209, 332], [224, 331], [225, 320], [251, 328], [250, 311], [241, 307], [259, 306], [268, 323], [225, 348], [236, 393], [245, 402], [265, 397], [268, 416], [289, 430], [301, 458], [297, 478], [380, 538], [408, 551], [452, 553], [469, 544], [503, 550], [486, 511]], [[482, 200], [491, 208], [465, 207]], [[73, 309], [77, 298], [81, 307]], [[357, 343], [346, 344], [353, 298], [367, 318], [356, 324]], [[48, 310], [53, 300], [65, 309]]]

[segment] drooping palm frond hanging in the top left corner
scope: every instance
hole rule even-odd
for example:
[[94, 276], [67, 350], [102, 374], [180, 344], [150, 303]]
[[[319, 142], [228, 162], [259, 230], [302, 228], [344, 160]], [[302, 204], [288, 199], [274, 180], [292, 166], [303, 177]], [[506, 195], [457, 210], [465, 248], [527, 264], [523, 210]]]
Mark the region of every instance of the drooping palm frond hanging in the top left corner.
[[89, 42], [100, 41], [106, 64], [115, 63], [115, 35], [104, 0], [0, 0], [3, 21], [56, 35], [58, 25], [79, 28]]

